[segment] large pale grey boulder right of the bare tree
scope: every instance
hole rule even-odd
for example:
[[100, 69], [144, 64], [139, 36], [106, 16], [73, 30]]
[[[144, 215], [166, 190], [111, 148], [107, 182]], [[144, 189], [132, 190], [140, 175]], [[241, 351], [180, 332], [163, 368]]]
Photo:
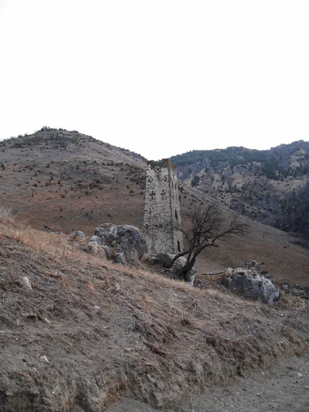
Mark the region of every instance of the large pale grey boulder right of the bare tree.
[[230, 290], [236, 290], [250, 299], [262, 299], [271, 304], [281, 298], [280, 290], [257, 271], [245, 268], [227, 268], [223, 273], [222, 283]]

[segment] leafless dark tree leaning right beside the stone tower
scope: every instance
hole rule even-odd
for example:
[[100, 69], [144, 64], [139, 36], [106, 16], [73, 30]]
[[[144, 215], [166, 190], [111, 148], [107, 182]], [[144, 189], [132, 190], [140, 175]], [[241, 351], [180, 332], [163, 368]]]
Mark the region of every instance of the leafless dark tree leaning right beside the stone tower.
[[181, 256], [187, 255], [187, 263], [178, 273], [181, 280], [189, 279], [196, 257], [207, 247], [219, 247], [218, 240], [225, 240], [231, 235], [244, 236], [248, 233], [248, 227], [240, 223], [236, 216], [229, 220], [214, 203], [206, 206], [195, 207], [188, 215], [190, 225], [188, 229], [176, 227], [185, 238], [185, 251], [174, 257], [173, 262]]

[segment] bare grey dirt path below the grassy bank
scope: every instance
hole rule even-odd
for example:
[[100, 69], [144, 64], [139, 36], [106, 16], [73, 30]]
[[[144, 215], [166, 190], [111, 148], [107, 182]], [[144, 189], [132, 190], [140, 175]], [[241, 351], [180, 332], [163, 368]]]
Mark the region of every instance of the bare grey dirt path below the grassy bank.
[[[106, 412], [155, 412], [148, 405], [124, 398]], [[163, 409], [171, 412], [171, 409]], [[225, 387], [208, 388], [190, 396], [177, 412], [308, 412], [309, 354], [284, 358], [273, 367], [236, 378]]]

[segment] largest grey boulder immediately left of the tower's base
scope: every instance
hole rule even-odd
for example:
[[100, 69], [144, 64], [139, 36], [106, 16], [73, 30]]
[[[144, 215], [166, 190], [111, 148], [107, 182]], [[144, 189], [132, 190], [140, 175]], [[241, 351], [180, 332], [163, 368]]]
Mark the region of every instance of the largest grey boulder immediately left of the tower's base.
[[95, 229], [95, 236], [100, 238], [101, 244], [124, 253], [128, 261], [140, 259], [147, 250], [145, 238], [135, 226], [106, 223]]

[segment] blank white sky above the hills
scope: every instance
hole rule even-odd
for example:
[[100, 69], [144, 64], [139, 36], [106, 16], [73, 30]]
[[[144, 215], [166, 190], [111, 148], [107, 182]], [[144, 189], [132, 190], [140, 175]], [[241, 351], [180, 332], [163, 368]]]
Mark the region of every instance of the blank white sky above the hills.
[[308, 0], [0, 0], [0, 139], [148, 159], [309, 140]]

